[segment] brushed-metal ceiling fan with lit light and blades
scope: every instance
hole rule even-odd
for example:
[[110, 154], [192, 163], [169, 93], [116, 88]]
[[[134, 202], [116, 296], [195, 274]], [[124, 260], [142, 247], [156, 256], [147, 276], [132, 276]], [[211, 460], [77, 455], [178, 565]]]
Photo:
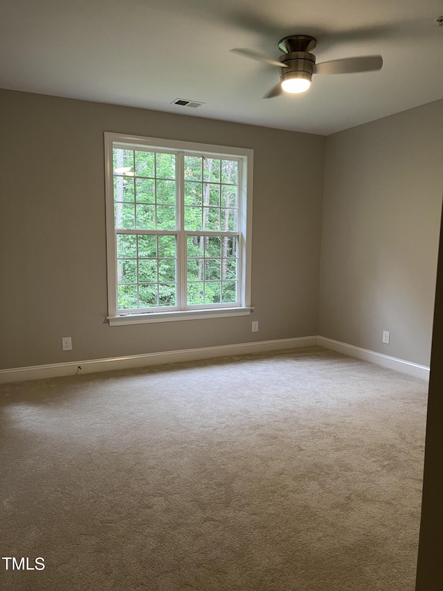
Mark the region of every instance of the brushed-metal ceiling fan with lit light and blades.
[[273, 98], [282, 94], [282, 91], [304, 92], [311, 85], [312, 74], [369, 72], [379, 70], [383, 65], [381, 55], [362, 55], [359, 58], [344, 58], [316, 64], [316, 56], [310, 53], [316, 44], [317, 40], [309, 35], [284, 37], [278, 42], [278, 48], [282, 52], [278, 61], [251, 49], [235, 48], [230, 51], [280, 68], [280, 83], [264, 98]]

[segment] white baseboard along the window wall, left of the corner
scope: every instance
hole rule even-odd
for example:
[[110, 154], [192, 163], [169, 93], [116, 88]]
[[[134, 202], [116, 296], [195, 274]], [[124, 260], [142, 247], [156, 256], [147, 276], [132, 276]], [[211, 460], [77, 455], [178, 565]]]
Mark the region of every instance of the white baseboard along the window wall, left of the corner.
[[[38, 380], [41, 378], [73, 376], [76, 373], [96, 373], [99, 371], [109, 371], [111, 369], [130, 369], [133, 367], [146, 367], [148, 365], [161, 365], [181, 361], [196, 361], [230, 355], [245, 355], [246, 353], [296, 349], [299, 347], [316, 346], [316, 344], [317, 337], [298, 337], [293, 339], [276, 339], [254, 343], [202, 347], [201, 349], [183, 349], [182, 351], [161, 351], [160, 353], [129, 355], [127, 357], [71, 361], [68, 363], [34, 365], [32, 367], [17, 367], [15, 369], [0, 370], [0, 384]], [[79, 367], [82, 369], [78, 369]]]

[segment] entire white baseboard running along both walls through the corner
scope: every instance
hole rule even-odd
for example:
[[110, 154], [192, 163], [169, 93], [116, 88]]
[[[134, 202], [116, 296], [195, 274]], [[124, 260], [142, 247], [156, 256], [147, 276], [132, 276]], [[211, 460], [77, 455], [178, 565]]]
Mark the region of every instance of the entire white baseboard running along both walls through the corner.
[[[147, 367], [149, 365], [161, 365], [182, 361], [197, 361], [203, 359], [228, 357], [230, 355], [245, 355], [246, 353], [264, 353], [265, 351], [280, 351], [283, 349], [297, 349], [300, 347], [323, 346], [350, 357], [356, 357], [370, 361], [389, 369], [395, 369], [409, 376], [429, 380], [429, 368], [361, 349], [354, 345], [348, 345], [327, 339], [326, 337], [298, 337], [293, 339], [275, 339], [272, 341], [258, 341], [254, 343], [239, 343], [234, 345], [221, 345], [215, 347], [202, 347], [200, 349], [183, 349], [182, 351], [161, 351], [160, 353], [146, 353], [143, 355], [128, 355], [107, 359], [91, 359], [85, 361], [71, 361], [68, 363], [53, 363], [48, 365], [35, 365], [32, 367], [17, 367], [15, 369], [0, 370], [0, 384], [10, 382], [23, 382], [26, 380], [38, 380], [41, 378], [57, 378], [60, 376], [73, 376], [76, 373], [97, 373], [111, 369], [131, 369], [133, 367]], [[78, 369], [81, 367], [81, 369]]]

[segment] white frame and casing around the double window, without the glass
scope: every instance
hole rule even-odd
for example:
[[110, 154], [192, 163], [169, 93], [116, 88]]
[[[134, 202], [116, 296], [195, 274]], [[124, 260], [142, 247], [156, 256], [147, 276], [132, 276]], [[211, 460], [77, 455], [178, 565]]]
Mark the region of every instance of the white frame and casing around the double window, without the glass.
[[[122, 326], [126, 324], [141, 324], [147, 322], [168, 322], [175, 320], [193, 320], [214, 317], [244, 316], [251, 313], [251, 234], [252, 234], [252, 193], [253, 193], [253, 150], [249, 148], [230, 148], [224, 145], [195, 143], [189, 141], [175, 141], [142, 136], [131, 136], [105, 132], [105, 193], [106, 193], [106, 231], [107, 231], [107, 284], [108, 284], [108, 316], [110, 326]], [[239, 305], [237, 304], [212, 304], [201, 308], [174, 309], [155, 312], [119, 313], [117, 311], [117, 252], [116, 252], [116, 228], [114, 222], [114, 177], [113, 177], [113, 145], [130, 150], [147, 148], [149, 150], [162, 150], [166, 152], [187, 152], [195, 155], [230, 158], [239, 160], [240, 186], [239, 186]], [[184, 185], [183, 170], [179, 170], [179, 224], [178, 234], [184, 235], [183, 208], [181, 207], [181, 191]], [[168, 233], [168, 231], [159, 231]], [[174, 231], [176, 233], [176, 231]], [[192, 232], [201, 236], [205, 231]], [[237, 233], [236, 233], [237, 234]], [[186, 257], [183, 250], [183, 238], [178, 246], [178, 276], [183, 278], [186, 274]], [[183, 289], [184, 281], [179, 279]]]

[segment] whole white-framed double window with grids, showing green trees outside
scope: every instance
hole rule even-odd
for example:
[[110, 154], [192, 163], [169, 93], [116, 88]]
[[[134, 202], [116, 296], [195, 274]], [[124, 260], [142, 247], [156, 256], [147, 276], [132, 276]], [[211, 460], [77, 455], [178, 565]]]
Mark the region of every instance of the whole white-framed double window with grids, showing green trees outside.
[[251, 311], [253, 151], [105, 134], [109, 323]]

